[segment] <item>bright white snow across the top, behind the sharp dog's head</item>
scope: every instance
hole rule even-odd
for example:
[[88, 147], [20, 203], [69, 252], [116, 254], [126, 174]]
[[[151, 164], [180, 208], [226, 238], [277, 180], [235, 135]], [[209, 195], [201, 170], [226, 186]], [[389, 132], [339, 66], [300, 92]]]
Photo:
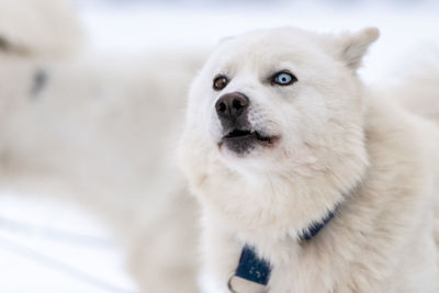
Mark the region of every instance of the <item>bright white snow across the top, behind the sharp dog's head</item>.
[[[213, 47], [224, 36], [249, 30], [294, 25], [317, 32], [378, 26], [381, 40], [367, 56], [360, 75], [367, 82], [386, 78], [390, 68], [421, 47], [439, 47], [439, 2], [435, 1], [273, 1], [271, 4], [225, 2], [182, 5], [79, 5], [90, 45], [108, 54], [145, 54], [178, 47]], [[87, 2], [89, 3], [89, 2]], [[98, 2], [99, 3], [99, 2]], [[185, 2], [183, 2], [185, 3]], [[247, 3], [244, 4], [244, 3]], [[417, 3], [417, 4], [416, 4]], [[111, 15], [111, 16], [110, 16]], [[116, 37], [115, 37], [116, 36]], [[383, 70], [384, 69], [384, 70]]]

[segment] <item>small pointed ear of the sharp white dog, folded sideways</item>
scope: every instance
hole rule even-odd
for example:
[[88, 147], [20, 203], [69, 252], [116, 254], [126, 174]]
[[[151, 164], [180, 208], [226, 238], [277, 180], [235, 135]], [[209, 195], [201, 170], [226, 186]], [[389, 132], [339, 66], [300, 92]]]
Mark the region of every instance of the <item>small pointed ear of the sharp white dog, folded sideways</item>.
[[338, 37], [337, 46], [341, 59], [346, 65], [356, 70], [361, 66], [361, 60], [369, 45], [380, 36], [376, 27], [367, 27], [357, 33], [344, 33]]

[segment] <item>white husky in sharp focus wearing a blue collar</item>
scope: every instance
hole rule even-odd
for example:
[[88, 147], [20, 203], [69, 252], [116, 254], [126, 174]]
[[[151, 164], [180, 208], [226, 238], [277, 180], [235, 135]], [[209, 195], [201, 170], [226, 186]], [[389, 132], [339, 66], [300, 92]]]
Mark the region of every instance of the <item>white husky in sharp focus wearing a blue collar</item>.
[[367, 88], [378, 36], [255, 31], [195, 78], [180, 159], [204, 292], [438, 292], [439, 74], [406, 80], [418, 114]]

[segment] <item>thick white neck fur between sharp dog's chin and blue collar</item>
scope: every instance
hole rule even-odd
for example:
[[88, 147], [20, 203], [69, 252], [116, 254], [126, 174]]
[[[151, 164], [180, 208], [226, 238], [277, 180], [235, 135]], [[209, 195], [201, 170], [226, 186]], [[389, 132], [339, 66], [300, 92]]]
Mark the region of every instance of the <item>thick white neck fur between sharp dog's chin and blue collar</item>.
[[[274, 271], [290, 267], [306, 247], [318, 244], [313, 236], [324, 238], [320, 234], [333, 223], [328, 215], [334, 213], [337, 204], [342, 207], [346, 198], [350, 196], [347, 194], [356, 193], [367, 174], [367, 159], [352, 158], [357, 164], [345, 160], [333, 168], [334, 172], [320, 171], [314, 177], [271, 172], [257, 179], [251, 177], [252, 181], [227, 171], [219, 164], [214, 165], [221, 170], [211, 171], [218, 176], [203, 177], [203, 184], [196, 190], [205, 215], [205, 239], [213, 241], [206, 240], [206, 246], [216, 246], [218, 239], [224, 239], [236, 249], [222, 272], [216, 273], [217, 268], [212, 267], [213, 274], [219, 277], [217, 281], [227, 282], [245, 245], [255, 247], [256, 256], [272, 263], [274, 279], [278, 278]], [[351, 167], [349, 172], [344, 170], [347, 164]], [[337, 210], [335, 217], [342, 213], [341, 210], [345, 209]], [[329, 219], [325, 221], [327, 217]], [[315, 226], [314, 223], [324, 224]], [[309, 238], [309, 246], [305, 238]], [[218, 259], [211, 263], [222, 263], [221, 256], [213, 258], [216, 257]]]

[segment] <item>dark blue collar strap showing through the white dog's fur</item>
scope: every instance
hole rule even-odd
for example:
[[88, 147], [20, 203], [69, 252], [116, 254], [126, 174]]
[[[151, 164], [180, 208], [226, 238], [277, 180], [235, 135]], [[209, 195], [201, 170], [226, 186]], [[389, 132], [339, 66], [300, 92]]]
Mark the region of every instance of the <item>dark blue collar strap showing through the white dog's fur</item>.
[[[300, 236], [301, 240], [307, 241], [316, 236], [334, 217], [338, 206], [339, 205], [337, 204], [336, 207], [330, 211], [320, 222], [313, 222], [306, 230], [303, 230], [303, 234]], [[270, 280], [270, 262], [259, 258], [254, 247], [245, 245], [243, 251], [240, 252], [239, 263], [236, 268], [236, 272], [232, 274], [230, 279], [228, 280], [229, 290], [234, 292], [233, 288], [230, 286], [233, 277], [239, 277], [250, 282], [267, 285], [268, 281]]]

